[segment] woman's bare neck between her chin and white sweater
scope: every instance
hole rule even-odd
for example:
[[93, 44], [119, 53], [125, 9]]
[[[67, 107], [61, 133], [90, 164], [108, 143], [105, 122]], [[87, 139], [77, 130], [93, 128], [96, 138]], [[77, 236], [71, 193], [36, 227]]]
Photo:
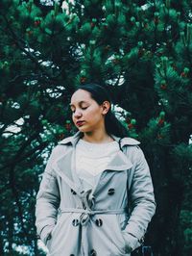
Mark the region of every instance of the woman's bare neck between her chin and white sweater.
[[92, 143], [107, 143], [113, 141], [106, 132], [100, 131], [84, 133], [83, 140]]

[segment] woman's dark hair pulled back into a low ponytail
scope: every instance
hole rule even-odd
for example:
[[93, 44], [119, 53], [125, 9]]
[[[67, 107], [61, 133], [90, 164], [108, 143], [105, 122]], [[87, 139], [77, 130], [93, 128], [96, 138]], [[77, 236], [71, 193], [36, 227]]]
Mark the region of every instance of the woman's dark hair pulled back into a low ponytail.
[[[94, 99], [99, 105], [101, 105], [106, 100], [111, 103], [108, 90], [106, 90], [104, 87], [99, 86], [97, 84], [81, 85], [75, 89], [75, 91], [77, 90], [88, 91], [91, 95], [91, 98]], [[111, 134], [120, 138], [128, 137], [128, 130], [112, 113], [111, 108], [109, 109], [108, 114], [106, 115], [105, 126], [106, 126], [107, 133], [109, 135]]]

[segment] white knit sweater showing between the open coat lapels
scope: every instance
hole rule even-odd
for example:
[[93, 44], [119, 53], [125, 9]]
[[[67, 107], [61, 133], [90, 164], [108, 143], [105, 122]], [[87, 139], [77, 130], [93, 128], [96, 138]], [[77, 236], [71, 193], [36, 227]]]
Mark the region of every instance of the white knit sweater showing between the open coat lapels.
[[80, 140], [76, 146], [76, 171], [84, 189], [92, 189], [109, 161], [119, 151], [117, 141], [91, 143]]

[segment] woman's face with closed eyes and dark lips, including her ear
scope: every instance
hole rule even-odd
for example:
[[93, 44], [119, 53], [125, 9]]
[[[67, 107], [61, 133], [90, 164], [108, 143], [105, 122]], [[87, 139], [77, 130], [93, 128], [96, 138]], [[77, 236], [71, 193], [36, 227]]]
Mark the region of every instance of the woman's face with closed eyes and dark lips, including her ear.
[[99, 105], [86, 90], [77, 90], [71, 97], [73, 122], [83, 133], [105, 129], [105, 115], [108, 113], [109, 102]]

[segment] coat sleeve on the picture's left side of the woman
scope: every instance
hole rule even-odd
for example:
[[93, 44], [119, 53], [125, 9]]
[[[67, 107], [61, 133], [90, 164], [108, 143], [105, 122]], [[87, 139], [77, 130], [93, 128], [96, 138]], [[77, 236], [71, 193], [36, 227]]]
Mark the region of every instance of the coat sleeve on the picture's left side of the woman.
[[43, 243], [55, 226], [60, 204], [58, 181], [52, 168], [57, 151], [57, 147], [52, 151], [36, 195], [36, 232]]

